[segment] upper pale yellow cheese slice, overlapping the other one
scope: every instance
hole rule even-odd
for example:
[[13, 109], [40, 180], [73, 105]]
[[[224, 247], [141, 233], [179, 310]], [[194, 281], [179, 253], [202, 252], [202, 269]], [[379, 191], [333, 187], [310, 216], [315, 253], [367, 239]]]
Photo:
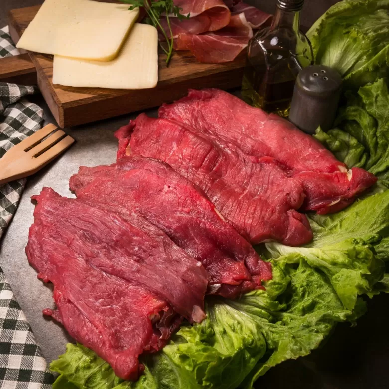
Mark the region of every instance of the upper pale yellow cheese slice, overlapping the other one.
[[110, 61], [139, 15], [139, 8], [91, 0], [46, 0], [18, 48], [66, 57]]

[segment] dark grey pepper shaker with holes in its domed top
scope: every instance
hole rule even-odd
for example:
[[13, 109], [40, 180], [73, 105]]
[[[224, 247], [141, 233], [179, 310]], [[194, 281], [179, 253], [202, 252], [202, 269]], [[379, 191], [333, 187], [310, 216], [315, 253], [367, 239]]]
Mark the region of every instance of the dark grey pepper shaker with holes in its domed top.
[[294, 85], [289, 120], [300, 130], [314, 134], [320, 126], [331, 128], [342, 90], [342, 78], [328, 66], [303, 68]]

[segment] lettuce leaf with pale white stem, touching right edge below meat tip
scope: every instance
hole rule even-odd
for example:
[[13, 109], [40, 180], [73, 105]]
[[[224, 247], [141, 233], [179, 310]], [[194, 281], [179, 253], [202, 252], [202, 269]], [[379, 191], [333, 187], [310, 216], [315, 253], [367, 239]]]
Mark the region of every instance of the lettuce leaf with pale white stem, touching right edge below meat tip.
[[[372, 296], [389, 257], [389, 191], [356, 201], [329, 216], [312, 215], [314, 239], [303, 247], [266, 243], [278, 263], [307, 263], [323, 271], [347, 309], [354, 309], [361, 294]], [[377, 255], [377, 250], [379, 255]]]

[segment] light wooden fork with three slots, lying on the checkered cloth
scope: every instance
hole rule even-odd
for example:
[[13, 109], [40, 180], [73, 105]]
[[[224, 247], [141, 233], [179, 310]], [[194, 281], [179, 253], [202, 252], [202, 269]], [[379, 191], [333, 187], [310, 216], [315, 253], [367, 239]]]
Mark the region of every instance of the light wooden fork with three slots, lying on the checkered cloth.
[[49, 124], [8, 150], [0, 159], [0, 185], [36, 173], [74, 143]]

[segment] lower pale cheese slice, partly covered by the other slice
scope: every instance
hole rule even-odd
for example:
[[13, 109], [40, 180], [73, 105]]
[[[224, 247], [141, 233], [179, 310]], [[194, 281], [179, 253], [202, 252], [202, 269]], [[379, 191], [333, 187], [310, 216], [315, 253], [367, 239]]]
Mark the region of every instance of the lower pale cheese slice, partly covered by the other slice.
[[110, 62], [54, 56], [53, 84], [115, 89], [153, 88], [158, 81], [158, 32], [136, 23], [119, 55]]

